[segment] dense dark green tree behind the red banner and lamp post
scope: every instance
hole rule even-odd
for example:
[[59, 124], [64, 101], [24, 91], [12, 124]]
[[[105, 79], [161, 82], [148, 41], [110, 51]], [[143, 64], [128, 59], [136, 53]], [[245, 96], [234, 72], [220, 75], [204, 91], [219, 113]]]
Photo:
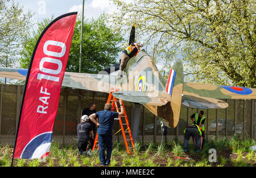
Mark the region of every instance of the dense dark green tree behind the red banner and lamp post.
[[[28, 68], [36, 40], [51, 20], [44, 19], [43, 22], [38, 23], [38, 30], [32, 37], [26, 39], [20, 59], [23, 68]], [[81, 68], [83, 73], [98, 73], [116, 64], [116, 59], [119, 57], [118, 52], [121, 51], [121, 47], [118, 47], [118, 44], [122, 42], [122, 36], [119, 32], [114, 33], [105, 21], [105, 15], [90, 22], [84, 20]], [[68, 72], [79, 72], [80, 37], [81, 17], [78, 16], [66, 68]]]

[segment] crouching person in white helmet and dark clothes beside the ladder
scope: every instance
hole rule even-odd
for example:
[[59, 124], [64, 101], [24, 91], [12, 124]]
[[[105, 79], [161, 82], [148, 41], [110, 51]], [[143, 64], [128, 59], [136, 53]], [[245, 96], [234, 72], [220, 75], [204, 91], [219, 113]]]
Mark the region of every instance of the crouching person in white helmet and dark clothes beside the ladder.
[[88, 141], [93, 144], [93, 129], [90, 125], [88, 115], [82, 115], [81, 123], [77, 125], [78, 148], [80, 155], [90, 155], [90, 150], [87, 150]]

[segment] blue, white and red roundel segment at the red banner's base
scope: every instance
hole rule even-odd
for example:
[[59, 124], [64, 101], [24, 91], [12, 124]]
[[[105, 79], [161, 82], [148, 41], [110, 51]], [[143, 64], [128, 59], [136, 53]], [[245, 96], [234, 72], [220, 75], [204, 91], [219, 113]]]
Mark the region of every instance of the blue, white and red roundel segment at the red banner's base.
[[52, 131], [36, 135], [24, 147], [20, 158], [34, 159], [43, 158], [49, 155], [49, 148], [51, 147]]

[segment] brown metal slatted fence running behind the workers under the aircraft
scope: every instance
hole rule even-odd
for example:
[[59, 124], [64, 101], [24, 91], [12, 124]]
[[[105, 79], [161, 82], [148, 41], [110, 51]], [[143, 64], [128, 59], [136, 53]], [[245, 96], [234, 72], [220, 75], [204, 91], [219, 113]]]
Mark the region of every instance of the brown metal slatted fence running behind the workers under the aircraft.
[[[14, 145], [15, 131], [18, 122], [20, 101], [24, 86], [0, 85], [0, 146]], [[96, 104], [96, 110], [104, 109], [108, 93], [92, 92], [89, 90], [61, 88], [59, 108], [53, 126], [53, 142], [61, 146], [77, 144], [77, 124], [80, 122], [81, 111], [88, 107], [90, 102]], [[216, 139], [230, 139], [234, 134], [240, 138], [256, 139], [256, 106], [255, 100], [225, 100], [229, 107], [226, 109], [204, 110], [207, 117], [205, 121], [205, 138], [214, 136]], [[183, 130], [189, 123], [189, 118], [199, 109], [191, 109], [181, 105], [180, 120], [176, 128], [168, 128], [166, 136], [162, 137], [160, 120], [146, 107], [141, 106], [141, 119], [139, 125], [138, 142], [144, 146], [150, 142], [160, 143], [179, 141], [183, 142]], [[132, 128], [134, 104], [125, 102], [129, 123]], [[119, 130], [119, 122], [114, 122], [113, 133]], [[121, 132], [113, 136], [113, 142], [123, 142]]]

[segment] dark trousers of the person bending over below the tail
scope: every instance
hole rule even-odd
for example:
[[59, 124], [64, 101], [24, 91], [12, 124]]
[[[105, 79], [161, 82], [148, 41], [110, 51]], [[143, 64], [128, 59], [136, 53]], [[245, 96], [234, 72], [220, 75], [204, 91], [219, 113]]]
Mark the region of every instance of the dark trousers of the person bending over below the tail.
[[199, 150], [200, 148], [200, 135], [197, 128], [188, 127], [185, 131], [184, 135], [184, 148], [188, 148], [188, 140], [190, 137], [193, 136], [196, 139], [196, 149]]

